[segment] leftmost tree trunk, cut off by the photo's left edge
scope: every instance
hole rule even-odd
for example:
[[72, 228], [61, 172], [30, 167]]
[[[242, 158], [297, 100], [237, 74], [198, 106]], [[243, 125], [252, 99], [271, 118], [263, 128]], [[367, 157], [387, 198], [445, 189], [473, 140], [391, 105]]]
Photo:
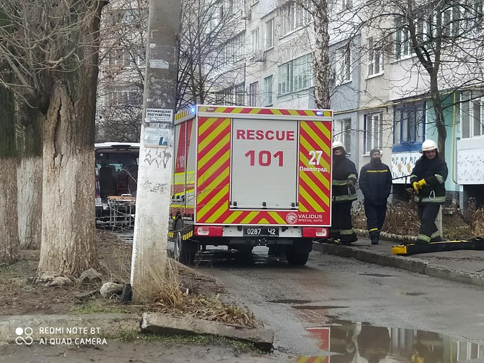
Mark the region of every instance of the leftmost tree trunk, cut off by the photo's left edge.
[[20, 255], [17, 225], [17, 147], [15, 106], [11, 92], [0, 87], [0, 263]]

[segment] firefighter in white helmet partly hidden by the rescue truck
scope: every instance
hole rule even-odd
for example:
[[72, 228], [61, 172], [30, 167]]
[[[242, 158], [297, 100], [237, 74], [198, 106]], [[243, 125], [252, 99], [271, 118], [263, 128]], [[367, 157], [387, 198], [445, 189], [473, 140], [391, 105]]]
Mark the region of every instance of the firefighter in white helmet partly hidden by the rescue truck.
[[330, 238], [349, 245], [358, 238], [351, 222], [351, 204], [356, 200], [354, 185], [358, 172], [354, 163], [346, 158], [341, 142], [333, 143], [333, 208]]

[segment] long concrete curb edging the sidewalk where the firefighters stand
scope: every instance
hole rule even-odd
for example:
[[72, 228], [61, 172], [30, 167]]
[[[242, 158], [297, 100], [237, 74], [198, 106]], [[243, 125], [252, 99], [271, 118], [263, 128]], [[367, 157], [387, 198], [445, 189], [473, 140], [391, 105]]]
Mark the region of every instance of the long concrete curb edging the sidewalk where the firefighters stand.
[[484, 286], [484, 276], [482, 275], [432, 265], [427, 261], [419, 260], [417, 258], [395, 256], [383, 252], [372, 252], [366, 249], [360, 249], [357, 246], [341, 246], [325, 243], [320, 244], [317, 242], [313, 243], [313, 251], [324, 252], [330, 255], [346, 258], [354, 258], [363, 262], [398, 268], [445, 280]]

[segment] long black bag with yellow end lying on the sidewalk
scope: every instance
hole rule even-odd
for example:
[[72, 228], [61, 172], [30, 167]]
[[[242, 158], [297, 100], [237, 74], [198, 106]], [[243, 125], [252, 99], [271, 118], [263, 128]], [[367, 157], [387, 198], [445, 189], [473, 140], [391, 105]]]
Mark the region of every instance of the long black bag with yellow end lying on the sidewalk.
[[408, 256], [419, 253], [433, 253], [457, 250], [484, 250], [484, 238], [457, 239], [429, 244], [409, 244], [393, 246], [394, 255]]

